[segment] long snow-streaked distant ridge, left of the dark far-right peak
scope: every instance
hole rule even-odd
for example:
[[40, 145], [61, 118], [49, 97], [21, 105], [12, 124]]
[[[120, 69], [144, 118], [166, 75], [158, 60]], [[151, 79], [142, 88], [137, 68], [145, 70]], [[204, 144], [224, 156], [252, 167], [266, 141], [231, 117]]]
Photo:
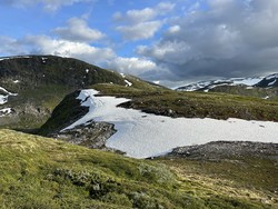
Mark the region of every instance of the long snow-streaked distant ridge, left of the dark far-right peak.
[[179, 87], [176, 90], [178, 91], [198, 91], [202, 90], [205, 92], [220, 86], [247, 86], [252, 87], [256, 83], [260, 82], [262, 77], [255, 78], [231, 78], [231, 79], [219, 79], [219, 80], [209, 80], [209, 81], [199, 81], [196, 83], [187, 84], [183, 87]]

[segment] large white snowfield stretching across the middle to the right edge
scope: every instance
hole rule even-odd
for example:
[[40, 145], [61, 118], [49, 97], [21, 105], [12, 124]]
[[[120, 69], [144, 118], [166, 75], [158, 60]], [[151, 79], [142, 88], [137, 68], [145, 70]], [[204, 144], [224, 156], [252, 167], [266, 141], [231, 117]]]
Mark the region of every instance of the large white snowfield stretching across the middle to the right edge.
[[89, 107], [89, 112], [66, 129], [91, 119], [113, 123], [117, 132], [108, 139], [107, 147], [125, 151], [129, 157], [160, 156], [177, 147], [218, 140], [278, 142], [278, 122], [209, 118], [173, 119], [117, 108], [117, 104], [129, 100], [95, 97], [98, 91], [93, 89], [80, 92], [77, 99], [81, 100], [82, 106]]

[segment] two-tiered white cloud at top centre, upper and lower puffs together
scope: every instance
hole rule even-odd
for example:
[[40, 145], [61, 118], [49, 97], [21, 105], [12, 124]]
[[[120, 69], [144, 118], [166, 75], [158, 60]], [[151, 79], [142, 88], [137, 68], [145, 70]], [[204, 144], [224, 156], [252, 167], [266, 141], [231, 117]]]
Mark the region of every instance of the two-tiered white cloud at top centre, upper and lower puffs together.
[[122, 33], [125, 40], [149, 39], [162, 27], [163, 21], [156, 18], [165, 16], [175, 8], [173, 3], [160, 2], [155, 8], [128, 10], [126, 13], [116, 12], [113, 19], [123, 22], [116, 30]]

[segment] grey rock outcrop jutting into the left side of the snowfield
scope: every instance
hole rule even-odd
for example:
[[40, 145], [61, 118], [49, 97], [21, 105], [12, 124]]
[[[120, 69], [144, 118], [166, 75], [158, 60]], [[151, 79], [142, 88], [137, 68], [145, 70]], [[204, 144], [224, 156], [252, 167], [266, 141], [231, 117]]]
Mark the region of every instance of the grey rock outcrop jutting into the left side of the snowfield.
[[111, 123], [89, 121], [87, 125], [52, 133], [50, 137], [92, 149], [107, 149], [106, 141], [115, 132], [115, 126]]

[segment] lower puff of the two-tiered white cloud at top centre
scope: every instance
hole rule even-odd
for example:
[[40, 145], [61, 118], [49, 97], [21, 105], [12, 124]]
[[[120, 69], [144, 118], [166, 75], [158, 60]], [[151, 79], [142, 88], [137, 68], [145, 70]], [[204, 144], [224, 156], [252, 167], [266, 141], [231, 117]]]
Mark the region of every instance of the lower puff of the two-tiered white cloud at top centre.
[[125, 40], [135, 41], [153, 37], [161, 26], [162, 23], [160, 21], [149, 21], [140, 22], [135, 26], [120, 26], [116, 29], [122, 32]]

